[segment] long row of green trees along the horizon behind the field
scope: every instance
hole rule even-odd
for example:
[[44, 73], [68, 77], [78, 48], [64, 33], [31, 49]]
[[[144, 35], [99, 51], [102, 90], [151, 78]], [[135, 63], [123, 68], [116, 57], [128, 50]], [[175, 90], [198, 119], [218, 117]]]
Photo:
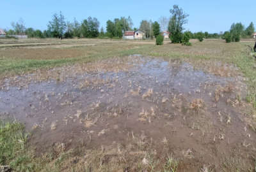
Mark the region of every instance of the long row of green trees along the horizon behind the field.
[[104, 28], [100, 27], [100, 22], [95, 17], [88, 17], [82, 22], [78, 22], [76, 18], [69, 22], [65, 20], [64, 15], [55, 13], [52, 15], [51, 21], [47, 24], [45, 31], [33, 29], [32, 27], [25, 27], [24, 20], [20, 19], [18, 22], [12, 22], [12, 28], [6, 31], [6, 34], [21, 34], [28, 35], [29, 38], [122, 38], [125, 31], [140, 31], [144, 32], [145, 39], [157, 38], [161, 31], [170, 32], [170, 39], [172, 43], [182, 43], [190, 45], [189, 39], [199, 39], [203, 41], [204, 38], [222, 38], [227, 42], [240, 41], [241, 38], [250, 38], [255, 31], [253, 22], [248, 27], [244, 27], [241, 23], [232, 24], [229, 31], [224, 33], [209, 33], [209, 32], [191, 32], [184, 31], [184, 25], [188, 23], [189, 15], [186, 14], [178, 5], [174, 5], [170, 9], [170, 18], [160, 17], [158, 22], [152, 20], [141, 20], [140, 27], [133, 27], [131, 17], [120, 17], [106, 22], [106, 32]]

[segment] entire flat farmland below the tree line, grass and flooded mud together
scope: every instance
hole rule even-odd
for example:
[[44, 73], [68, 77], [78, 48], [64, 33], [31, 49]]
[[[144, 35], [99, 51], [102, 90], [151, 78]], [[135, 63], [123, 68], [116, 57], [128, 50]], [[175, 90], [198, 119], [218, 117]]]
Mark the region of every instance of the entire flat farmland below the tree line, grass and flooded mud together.
[[191, 42], [0, 39], [1, 121], [24, 129], [6, 130], [19, 138], [0, 145], [0, 162], [17, 171], [254, 171], [253, 40]]

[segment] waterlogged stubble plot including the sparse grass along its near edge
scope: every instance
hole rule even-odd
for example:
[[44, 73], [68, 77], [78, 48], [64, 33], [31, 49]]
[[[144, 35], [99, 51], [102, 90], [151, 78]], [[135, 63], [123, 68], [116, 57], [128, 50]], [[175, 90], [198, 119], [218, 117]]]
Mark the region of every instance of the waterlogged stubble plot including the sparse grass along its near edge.
[[48, 164], [60, 171], [253, 169], [244, 78], [211, 64], [128, 55], [42, 69], [4, 78], [0, 113], [26, 125], [36, 155], [66, 152]]

